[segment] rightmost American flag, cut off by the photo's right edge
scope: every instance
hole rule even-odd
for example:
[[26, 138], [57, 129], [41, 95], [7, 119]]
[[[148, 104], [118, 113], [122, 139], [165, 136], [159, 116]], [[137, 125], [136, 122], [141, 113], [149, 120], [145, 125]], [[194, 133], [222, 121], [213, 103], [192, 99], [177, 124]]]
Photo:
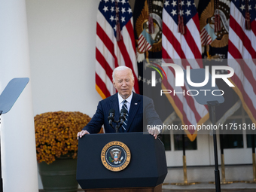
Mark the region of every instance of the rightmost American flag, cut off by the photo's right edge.
[[[245, 14], [251, 29], [245, 29]], [[256, 2], [232, 0], [230, 5], [230, 31], [228, 42], [228, 66], [235, 74], [231, 78], [234, 90], [243, 108], [256, 123]]]

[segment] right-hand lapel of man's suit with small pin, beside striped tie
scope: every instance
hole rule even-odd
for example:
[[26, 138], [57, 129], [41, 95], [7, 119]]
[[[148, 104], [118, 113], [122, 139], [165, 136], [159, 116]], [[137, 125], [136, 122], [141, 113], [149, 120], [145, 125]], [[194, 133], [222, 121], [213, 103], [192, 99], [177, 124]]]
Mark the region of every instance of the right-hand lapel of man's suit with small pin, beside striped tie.
[[130, 129], [133, 119], [137, 114], [139, 105], [142, 105], [142, 100], [139, 98], [138, 94], [133, 93], [133, 99], [132, 99], [131, 105], [130, 105], [129, 119], [128, 119], [128, 123], [126, 126], [126, 132], [128, 132], [128, 130]]

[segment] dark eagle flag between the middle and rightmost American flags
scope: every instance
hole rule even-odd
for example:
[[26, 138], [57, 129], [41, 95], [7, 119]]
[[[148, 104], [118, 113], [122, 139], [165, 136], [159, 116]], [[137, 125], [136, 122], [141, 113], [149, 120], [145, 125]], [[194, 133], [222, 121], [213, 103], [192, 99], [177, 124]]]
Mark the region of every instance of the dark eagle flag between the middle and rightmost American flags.
[[[200, 35], [204, 66], [227, 66], [227, 47], [230, 20], [230, 2], [219, 0], [200, 0], [197, 8], [200, 18]], [[216, 18], [218, 18], [216, 20]], [[218, 23], [221, 28], [216, 30]], [[227, 74], [218, 70], [218, 74]], [[224, 91], [224, 102], [216, 106], [216, 122], [223, 124], [240, 106], [241, 102], [232, 87], [222, 79], [216, 84]]]

